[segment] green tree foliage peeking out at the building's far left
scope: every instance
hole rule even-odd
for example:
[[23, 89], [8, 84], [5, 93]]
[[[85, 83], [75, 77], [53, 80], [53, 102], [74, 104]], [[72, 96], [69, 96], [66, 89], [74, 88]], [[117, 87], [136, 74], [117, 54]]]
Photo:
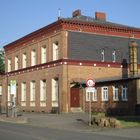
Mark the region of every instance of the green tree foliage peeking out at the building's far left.
[[0, 50], [0, 73], [5, 72], [4, 50]]

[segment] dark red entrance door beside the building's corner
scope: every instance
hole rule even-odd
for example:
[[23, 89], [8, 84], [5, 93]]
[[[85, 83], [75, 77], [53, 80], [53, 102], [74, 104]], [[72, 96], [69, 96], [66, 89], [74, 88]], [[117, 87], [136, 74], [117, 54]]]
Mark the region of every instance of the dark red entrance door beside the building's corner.
[[71, 107], [80, 107], [80, 95], [79, 88], [71, 88], [70, 91], [70, 103]]

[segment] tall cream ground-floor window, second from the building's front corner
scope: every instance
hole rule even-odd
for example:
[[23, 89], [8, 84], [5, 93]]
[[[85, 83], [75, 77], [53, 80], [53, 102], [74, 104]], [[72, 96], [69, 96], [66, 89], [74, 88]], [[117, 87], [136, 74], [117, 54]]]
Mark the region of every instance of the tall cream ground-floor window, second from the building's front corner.
[[46, 101], [46, 80], [40, 81], [40, 101]]

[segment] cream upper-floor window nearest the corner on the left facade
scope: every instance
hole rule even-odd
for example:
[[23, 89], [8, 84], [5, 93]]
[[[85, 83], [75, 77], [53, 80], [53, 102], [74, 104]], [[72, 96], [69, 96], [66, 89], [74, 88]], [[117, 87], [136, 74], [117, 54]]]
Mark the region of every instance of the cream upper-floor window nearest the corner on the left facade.
[[53, 43], [53, 60], [58, 60], [59, 58], [59, 43]]

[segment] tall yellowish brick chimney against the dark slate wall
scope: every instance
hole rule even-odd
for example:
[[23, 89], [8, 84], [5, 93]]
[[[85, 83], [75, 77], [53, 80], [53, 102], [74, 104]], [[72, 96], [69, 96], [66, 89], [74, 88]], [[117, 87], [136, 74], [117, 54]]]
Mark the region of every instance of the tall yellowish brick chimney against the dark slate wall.
[[135, 41], [129, 43], [130, 75], [138, 74], [138, 44]]

